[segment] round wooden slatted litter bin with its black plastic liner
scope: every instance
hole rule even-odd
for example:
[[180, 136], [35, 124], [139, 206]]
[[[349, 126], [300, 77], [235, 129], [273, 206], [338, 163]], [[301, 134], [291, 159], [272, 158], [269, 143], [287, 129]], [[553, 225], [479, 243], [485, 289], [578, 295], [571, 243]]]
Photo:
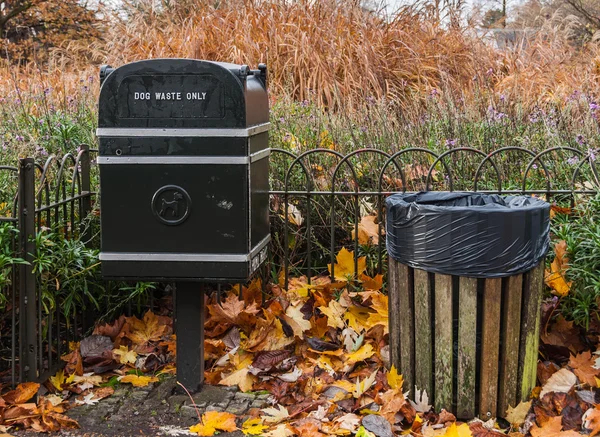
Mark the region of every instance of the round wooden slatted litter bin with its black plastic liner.
[[437, 410], [504, 416], [536, 382], [550, 205], [423, 192], [386, 209], [392, 364]]

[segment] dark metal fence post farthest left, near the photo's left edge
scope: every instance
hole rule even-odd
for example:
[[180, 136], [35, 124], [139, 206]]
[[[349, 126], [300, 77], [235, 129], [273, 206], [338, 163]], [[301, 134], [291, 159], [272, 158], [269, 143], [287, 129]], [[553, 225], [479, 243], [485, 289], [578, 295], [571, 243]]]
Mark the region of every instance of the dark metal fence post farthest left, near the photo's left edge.
[[36, 284], [33, 273], [35, 253], [35, 164], [33, 158], [19, 160], [19, 249], [28, 264], [19, 271], [19, 374], [21, 381], [33, 381], [37, 366]]

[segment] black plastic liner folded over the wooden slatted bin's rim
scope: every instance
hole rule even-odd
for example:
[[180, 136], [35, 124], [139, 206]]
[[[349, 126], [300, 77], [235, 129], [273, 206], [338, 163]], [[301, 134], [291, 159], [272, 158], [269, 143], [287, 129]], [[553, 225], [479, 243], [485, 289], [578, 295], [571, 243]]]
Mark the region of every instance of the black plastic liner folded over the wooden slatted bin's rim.
[[512, 276], [537, 266], [550, 246], [550, 204], [535, 197], [401, 193], [386, 207], [389, 255], [428, 272]]

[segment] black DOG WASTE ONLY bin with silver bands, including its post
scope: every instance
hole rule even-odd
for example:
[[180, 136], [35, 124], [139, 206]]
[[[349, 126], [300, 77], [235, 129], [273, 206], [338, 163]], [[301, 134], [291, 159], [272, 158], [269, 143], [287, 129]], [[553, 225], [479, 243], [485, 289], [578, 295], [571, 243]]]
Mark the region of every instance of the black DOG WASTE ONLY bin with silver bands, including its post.
[[196, 282], [246, 281], [267, 257], [267, 67], [149, 59], [103, 67], [100, 77], [102, 275], [177, 281], [177, 380], [196, 391]]

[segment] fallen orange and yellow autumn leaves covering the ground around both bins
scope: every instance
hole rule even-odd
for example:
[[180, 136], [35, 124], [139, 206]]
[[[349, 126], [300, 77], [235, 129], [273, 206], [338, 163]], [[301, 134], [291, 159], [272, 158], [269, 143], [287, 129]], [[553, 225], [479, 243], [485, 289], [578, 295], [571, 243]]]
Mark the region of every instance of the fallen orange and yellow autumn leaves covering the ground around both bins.
[[[552, 317], [558, 297], [547, 300], [540, 386], [531, 400], [510, 407], [504, 418], [463, 423], [445, 410], [434, 411], [418, 387], [409, 396], [402, 375], [389, 369], [383, 277], [365, 275], [364, 258], [358, 269], [352, 252], [342, 249], [335, 282], [325, 276], [311, 278], [310, 284], [306, 277], [290, 278], [287, 290], [282, 283], [270, 284], [264, 304], [259, 281], [233, 289], [220, 303], [216, 295], [207, 297], [206, 382], [269, 393], [271, 406], [251, 409], [245, 417], [209, 411], [190, 431], [212, 436], [239, 429], [268, 437], [600, 435], [600, 323], [581, 332], [572, 322]], [[359, 287], [346, 279], [355, 273]], [[553, 288], [556, 278], [550, 279]], [[152, 312], [141, 320], [121, 316], [97, 326], [93, 335], [70, 345], [71, 352], [62, 357], [64, 369], [43, 387], [30, 382], [3, 391], [0, 437], [22, 428], [77, 428], [67, 410], [96, 404], [117, 384], [146, 386], [173, 374], [172, 328], [170, 317]], [[31, 401], [38, 392], [44, 395]]]

